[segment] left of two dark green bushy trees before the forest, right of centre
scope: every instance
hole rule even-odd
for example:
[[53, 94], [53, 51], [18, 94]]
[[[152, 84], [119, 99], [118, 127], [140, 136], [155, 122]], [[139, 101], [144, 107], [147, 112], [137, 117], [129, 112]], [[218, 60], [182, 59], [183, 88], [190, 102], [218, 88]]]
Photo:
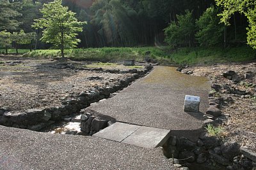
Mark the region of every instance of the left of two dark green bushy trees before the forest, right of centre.
[[185, 15], [177, 15], [177, 23], [171, 22], [164, 29], [166, 38], [164, 41], [171, 46], [191, 46], [195, 36], [195, 20], [192, 17], [192, 12], [186, 10]]

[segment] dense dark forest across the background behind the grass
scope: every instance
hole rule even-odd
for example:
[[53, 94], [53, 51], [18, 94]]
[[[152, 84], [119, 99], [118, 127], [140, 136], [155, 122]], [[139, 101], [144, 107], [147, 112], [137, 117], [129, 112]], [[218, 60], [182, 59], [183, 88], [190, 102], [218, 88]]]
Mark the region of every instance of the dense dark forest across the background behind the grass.
[[[10, 41], [12, 46], [51, 47], [51, 44], [40, 41], [42, 29], [31, 27], [36, 18], [42, 17], [40, 9], [44, 3], [51, 1], [1, 0], [1, 47], [10, 44]], [[242, 12], [232, 11], [226, 15], [228, 24], [220, 23], [221, 16], [218, 14], [225, 12], [221, 0], [63, 0], [63, 6], [76, 13], [77, 20], [87, 22], [83, 25], [83, 32], [78, 34], [81, 39], [79, 48], [153, 45], [225, 47], [247, 42], [248, 17]], [[14, 40], [3, 39], [9, 34], [16, 35]]]

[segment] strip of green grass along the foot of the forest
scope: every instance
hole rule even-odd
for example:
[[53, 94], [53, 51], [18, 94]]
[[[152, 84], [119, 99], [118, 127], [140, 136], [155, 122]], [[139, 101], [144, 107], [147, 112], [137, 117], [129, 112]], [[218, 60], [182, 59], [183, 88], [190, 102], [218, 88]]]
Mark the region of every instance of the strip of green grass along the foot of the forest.
[[[11, 50], [9, 50], [12, 53]], [[256, 50], [249, 46], [236, 48], [218, 47], [194, 47], [179, 48], [170, 50], [165, 47], [134, 47], [134, 48], [86, 48], [65, 50], [65, 56], [72, 60], [90, 60], [100, 62], [116, 62], [124, 59], [135, 59], [143, 61], [145, 53], [150, 51], [150, 57], [157, 60], [160, 64], [214, 64], [223, 62], [245, 62], [256, 60]], [[0, 50], [3, 52], [3, 50]], [[24, 53], [24, 57], [32, 58], [56, 58], [60, 57], [60, 50], [19, 50]], [[15, 53], [15, 50], [13, 50]]]

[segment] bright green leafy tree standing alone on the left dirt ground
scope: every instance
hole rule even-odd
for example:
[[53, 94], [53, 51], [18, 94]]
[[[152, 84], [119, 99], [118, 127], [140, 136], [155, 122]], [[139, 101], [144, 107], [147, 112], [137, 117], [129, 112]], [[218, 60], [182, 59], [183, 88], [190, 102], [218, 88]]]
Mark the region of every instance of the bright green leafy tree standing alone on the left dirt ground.
[[86, 22], [77, 21], [76, 13], [68, 11], [68, 7], [62, 6], [61, 2], [54, 0], [44, 4], [44, 8], [40, 10], [43, 17], [36, 19], [32, 27], [44, 29], [41, 40], [59, 48], [61, 57], [64, 58], [64, 48], [77, 46], [80, 41], [76, 38], [77, 32], [83, 31]]

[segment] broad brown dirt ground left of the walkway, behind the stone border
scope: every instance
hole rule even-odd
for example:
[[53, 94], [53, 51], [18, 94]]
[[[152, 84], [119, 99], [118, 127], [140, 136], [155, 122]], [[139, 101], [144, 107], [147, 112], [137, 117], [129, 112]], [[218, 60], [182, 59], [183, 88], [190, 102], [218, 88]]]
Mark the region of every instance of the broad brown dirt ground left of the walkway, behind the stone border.
[[[62, 66], [52, 59], [0, 56], [0, 106], [9, 108], [12, 112], [60, 106], [62, 101], [72, 99], [80, 92], [102, 87], [131, 75], [79, 70], [74, 66], [86, 68], [88, 64], [69, 63], [68, 66], [72, 66], [72, 69], [61, 69]], [[105, 69], [127, 71], [131, 68], [109, 65], [104, 66]]]

